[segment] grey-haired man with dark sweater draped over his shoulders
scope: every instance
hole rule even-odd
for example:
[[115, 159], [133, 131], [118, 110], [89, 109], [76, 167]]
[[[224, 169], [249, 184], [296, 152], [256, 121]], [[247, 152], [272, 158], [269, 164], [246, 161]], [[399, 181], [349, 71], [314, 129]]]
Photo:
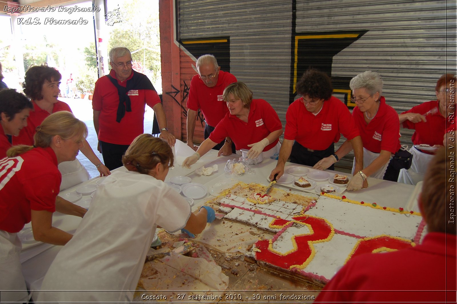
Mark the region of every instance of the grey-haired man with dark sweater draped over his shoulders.
[[97, 80], [92, 99], [94, 127], [99, 151], [110, 169], [122, 166], [122, 155], [139, 134], [143, 133], [144, 110], [151, 107], [160, 128], [160, 138], [171, 146], [175, 136], [168, 132], [159, 95], [146, 75], [132, 69], [128, 48], [112, 48], [109, 53], [111, 71]]

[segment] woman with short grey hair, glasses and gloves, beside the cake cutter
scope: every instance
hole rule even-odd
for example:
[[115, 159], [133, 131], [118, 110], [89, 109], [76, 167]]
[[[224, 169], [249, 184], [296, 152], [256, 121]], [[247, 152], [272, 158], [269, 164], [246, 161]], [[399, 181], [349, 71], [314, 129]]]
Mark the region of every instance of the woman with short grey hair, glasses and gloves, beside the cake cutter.
[[[365, 71], [350, 82], [352, 90], [351, 101], [357, 107], [352, 116], [360, 131], [363, 143], [363, 170], [353, 172], [348, 190], [358, 190], [368, 187], [367, 176], [388, 181], [397, 181], [399, 170], [393, 168], [392, 156], [400, 149], [400, 128], [398, 115], [386, 104], [383, 96], [383, 80], [372, 71]], [[345, 141], [337, 152], [340, 159], [352, 150], [351, 143]], [[356, 160], [354, 158], [355, 169]]]

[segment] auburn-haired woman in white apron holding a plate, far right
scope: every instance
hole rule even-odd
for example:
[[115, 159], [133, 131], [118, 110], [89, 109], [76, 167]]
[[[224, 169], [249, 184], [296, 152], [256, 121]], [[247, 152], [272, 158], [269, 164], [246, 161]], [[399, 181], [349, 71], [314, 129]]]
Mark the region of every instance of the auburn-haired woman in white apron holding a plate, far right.
[[[442, 75], [435, 86], [437, 100], [424, 102], [399, 114], [401, 126], [415, 130], [411, 137], [413, 147], [409, 150], [413, 155], [413, 163], [408, 170], [400, 171], [399, 182], [416, 185], [424, 179], [425, 170], [433, 158], [434, 151], [443, 144], [446, 129], [450, 127], [446, 118], [450, 112], [455, 111], [452, 105], [455, 85], [455, 75]], [[424, 145], [422, 149], [420, 145]]]

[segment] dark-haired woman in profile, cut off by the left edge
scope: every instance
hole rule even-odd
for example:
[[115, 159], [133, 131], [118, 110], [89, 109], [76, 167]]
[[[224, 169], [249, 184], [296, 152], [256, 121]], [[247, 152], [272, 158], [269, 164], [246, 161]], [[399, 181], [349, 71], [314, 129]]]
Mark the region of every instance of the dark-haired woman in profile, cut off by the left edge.
[[32, 102], [14, 89], [0, 91], [0, 159], [6, 157], [6, 150], [11, 148], [6, 135], [19, 135], [27, 127], [27, 117], [33, 109]]

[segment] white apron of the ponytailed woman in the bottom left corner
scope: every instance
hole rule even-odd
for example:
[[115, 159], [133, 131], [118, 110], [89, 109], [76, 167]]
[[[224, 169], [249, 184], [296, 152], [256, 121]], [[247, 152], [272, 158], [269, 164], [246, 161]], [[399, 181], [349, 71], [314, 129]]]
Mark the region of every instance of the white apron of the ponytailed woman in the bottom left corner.
[[0, 290], [5, 290], [0, 292], [2, 303], [23, 303], [29, 300], [19, 261], [21, 250], [22, 244], [17, 233], [0, 230]]

